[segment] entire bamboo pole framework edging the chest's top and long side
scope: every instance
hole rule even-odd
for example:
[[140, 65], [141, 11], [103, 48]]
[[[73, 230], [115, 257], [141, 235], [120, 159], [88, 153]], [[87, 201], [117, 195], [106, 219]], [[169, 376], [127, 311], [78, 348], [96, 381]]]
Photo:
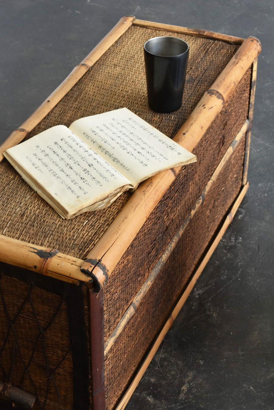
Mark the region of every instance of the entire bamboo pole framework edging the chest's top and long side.
[[[168, 30], [172, 32], [179, 32], [182, 34], [188, 34], [193, 36], [202, 36], [211, 39], [227, 41], [232, 44], [241, 44], [239, 50], [233, 56], [231, 61], [224, 68], [222, 73], [219, 75], [217, 80], [213, 83], [211, 88], [204, 93], [204, 96], [198, 103], [198, 105], [193, 110], [192, 114], [188, 120], [183, 124], [174, 140], [177, 141], [181, 146], [185, 147], [188, 150], [193, 150], [195, 146], [199, 143], [200, 139], [203, 137], [204, 133], [210, 127], [211, 123], [214, 121], [216, 116], [222, 110], [224, 103], [227, 98], [231, 95], [233, 90], [237, 87], [238, 82], [241, 80], [242, 76], [245, 74], [249, 66], [253, 64], [252, 75], [256, 77], [256, 57], [260, 53], [260, 42], [254, 37], [249, 37], [248, 39], [240, 39], [239, 37], [227, 36], [225, 34], [208, 32], [205, 30], [192, 30], [186, 27], [178, 27], [171, 25], [164, 25], [160, 23], [152, 23], [149, 21], [142, 21], [134, 19], [134, 16], [122, 17], [120, 21], [113, 27], [111, 32], [107, 34], [104, 39], [91, 51], [91, 53], [76, 66], [70, 75], [63, 81], [63, 83], [45, 100], [45, 102], [21, 125], [18, 130], [14, 131], [10, 137], [0, 146], [0, 161], [3, 159], [2, 152], [7, 148], [18, 144], [24, 139], [26, 134], [30, 132], [47, 114], [50, 110], [57, 105], [57, 103], [66, 95], [66, 93], [76, 84], [76, 82], [88, 71], [89, 68], [104, 54], [104, 52], [120, 37], [122, 34], [131, 26], [136, 25], [139, 27], [147, 28], [156, 28], [159, 30]], [[254, 61], [255, 59], [255, 61]], [[254, 80], [254, 77], [252, 77]], [[253, 83], [252, 83], [253, 85]], [[253, 114], [253, 101], [254, 101], [255, 85], [253, 91], [251, 90], [250, 96], [250, 107], [249, 107], [249, 122], [251, 123], [252, 114]], [[248, 121], [245, 122], [240, 132], [243, 136], [247, 127], [249, 126]], [[248, 131], [249, 132], [249, 131]], [[240, 133], [239, 133], [240, 134]], [[237, 134], [237, 137], [239, 137]], [[239, 137], [239, 138], [242, 138]], [[236, 138], [237, 138], [236, 137]], [[161, 255], [160, 260], [154, 266], [153, 277], [149, 276], [149, 280], [145, 282], [140, 292], [134, 298], [134, 302], [129, 306], [126, 314], [122, 317], [121, 321], [118, 323], [118, 326], [115, 328], [113, 334], [106, 341], [104, 349], [100, 351], [97, 349], [97, 344], [94, 342], [95, 339], [91, 339], [91, 357], [93, 357], [93, 369], [94, 372], [92, 378], [93, 382], [96, 381], [98, 389], [93, 391], [93, 396], [97, 396], [97, 407], [101, 409], [104, 407], [104, 403], [101, 404], [101, 401], [104, 401], [104, 382], [103, 377], [103, 365], [104, 365], [104, 355], [106, 355], [111, 346], [115, 343], [118, 335], [125, 328], [126, 324], [130, 318], [135, 314], [135, 311], [140, 303], [140, 300], [144, 297], [147, 290], [153, 283], [153, 278], [156, 277], [161, 266], [165, 263], [168, 256], [174, 249], [179, 237], [181, 237], [183, 230], [186, 225], [189, 223], [192, 216], [195, 214], [199, 206], [203, 202], [204, 196], [207, 194], [208, 189], [211, 188], [211, 185], [214, 183], [214, 180], [219, 175], [220, 170], [230, 157], [233, 150], [238, 145], [240, 139], [235, 139], [234, 145], [230, 147], [225, 154], [224, 158], [218, 165], [217, 169], [213, 173], [212, 179], [206, 185], [202, 196], [197, 200], [195, 207], [186, 220], [183, 222], [180, 230], [177, 232], [177, 236], [170, 241], [168, 248]], [[246, 161], [248, 165], [248, 153], [249, 153], [249, 142], [247, 141], [246, 145]], [[245, 166], [247, 170], [247, 166]], [[9, 237], [0, 235], [0, 260], [2, 262], [12, 264], [14, 266], [19, 266], [24, 269], [29, 269], [35, 271], [45, 276], [52, 276], [58, 280], [63, 280], [66, 282], [73, 283], [75, 285], [79, 284], [79, 281], [86, 282], [90, 297], [90, 307], [93, 305], [102, 307], [102, 291], [99, 294], [94, 292], [93, 280], [96, 281], [97, 291], [99, 291], [104, 284], [106, 283], [108, 276], [111, 275], [113, 269], [121, 259], [123, 253], [131, 244], [133, 239], [136, 237], [138, 231], [142, 227], [143, 223], [149, 217], [149, 214], [159, 203], [165, 192], [168, 190], [176, 175], [181, 170], [181, 167], [177, 167], [172, 170], [163, 171], [158, 175], [155, 175], [153, 178], [143, 182], [135, 193], [131, 196], [131, 199], [125, 205], [123, 210], [120, 212], [115, 221], [111, 224], [110, 228], [102, 236], [97, 245], [92, 249], [88, 254], [87, 260], [74, 258], [69, 255], [59, 253], [55, 249], [49, 249], [42, 246], [36, 246], [33, 244], [28, 244], [23, 241], [18, 241]], [[243, 181], [245, 179], [245, 175]], [[195, 274], [192, 276], [192, 279], [188, 283], [185, 291], [183, 292], [179, 302], [174, 307], [174, 310], [169, 317], [168, 321], [165, 323], [161, 333], [156, 338], [147, 358], [141, 365], [136, 377], [132, 381], [131, 385], [127, 389], [127, 392], [122, 397], [120, 404], [116, 410], [122, 410], [125, 408], [129, 398], [131, 397], [134, 389], [136, 388], [140, 378], [143, 376], [149, 362], [152, 360], [157, 348], [159, 347], [163, 337], [167, 333], [168, 329], [172, 326], [174, 319], [177, 317], [179, 310], [183, 306], [183, 303], [186, 301], [190, 291], [194, 287], [199, 275], [202, 273], [204, 266], [211, 257], [213, 251], [215, 250], [217, 244], [219, 243], [222, 235], [224, 234], [226, 228], [231, 223], [233, 216], [240, 205], [243, 196], [245, 195], [248, 189], [248, 183], [244, 185], [242, 191], [237, 197], [233, 207], [231, 208], [229, 214], [226, 217], [224, 225], [221, 230], [215, 237], [212, 245], [204, 255], [204, 258], [197, 268]], [[129, 229], [128, 220], [131, 220], [131, 225]], [[157, 271], [158, 269], [158, 271]], [[99, 300], [97, 299], [99, 298]], [[102, 309], [101, 309], [102, 310]], [[91, 313], [91, 312], [90, 312]], [[91, 338], [96, 337], [96, 320], [103, 320], [103, 313], [100, 313], [100, 317], [92, 317], [91, 313]], [[92, 323], [93, 322], [93, 323]], [[102, 325], [103, 326], [103, 325]], [[100, 327], [100, 337], [103, 337], [103, 327]], [[95, 346], [96, 345], [96, 346]], [[94, 348], [95, 346], [95, 348]], [[100, 346], [99, 346], [100, 347]], [[102, 347], [102, 346], [101, 346]], [[99, 352], [99, 353], [98, 353]], [[97, 360], [98, 359], [98, 360]], [[100, 375], [97, 375], [97, 369], [95, 363], [99, 361], [100, 366]], [[98, 376], [100, 377], [98, 378]]]

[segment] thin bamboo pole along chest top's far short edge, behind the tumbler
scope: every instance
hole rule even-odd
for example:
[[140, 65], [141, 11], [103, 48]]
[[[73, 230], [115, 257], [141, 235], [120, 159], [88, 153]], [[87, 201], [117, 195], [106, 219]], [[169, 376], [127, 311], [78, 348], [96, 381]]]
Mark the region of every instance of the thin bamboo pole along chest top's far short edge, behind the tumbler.
[[245, 40], [245, 39], [242, 39], [241, 37], [235, 37], [235, 36], [229, 36], [227, 34], [215, 33], [213, 31], [199, 30], [195, 28], [192, 29], [188, 27], [180, 27], [176, 25], [163, 24], [163, 23], [155, 23], [153, 21], [139, 20], [137, 18], [132, 22], [132, 24], [139, 26], [139, 27], [152, 28], [152, 29], [158, 29], [158, 30], [163, 30], [163, 31], [171, 31], [175, 33], [188, 34], [189, 36], [206, 37], [209, 39], [226, 41], [227, 43], [230, 43], [230, 44], [242, 44], [242, 42]]

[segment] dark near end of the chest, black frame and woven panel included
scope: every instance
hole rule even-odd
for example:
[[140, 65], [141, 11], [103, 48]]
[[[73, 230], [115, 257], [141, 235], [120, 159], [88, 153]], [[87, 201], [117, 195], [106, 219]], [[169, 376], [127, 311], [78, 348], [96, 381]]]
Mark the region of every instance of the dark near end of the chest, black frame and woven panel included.
[[81, 286], [0, 264], [0, 380], [34, 410], [88, 410], [84, 302]]

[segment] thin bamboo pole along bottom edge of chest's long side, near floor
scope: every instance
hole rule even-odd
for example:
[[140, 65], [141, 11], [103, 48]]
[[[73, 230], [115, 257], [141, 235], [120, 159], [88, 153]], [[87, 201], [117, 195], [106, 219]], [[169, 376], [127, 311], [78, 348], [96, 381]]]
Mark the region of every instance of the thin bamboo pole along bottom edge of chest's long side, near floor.
[[217, 245], [219, 244], [220, 240], [222, 239], [224, 232], [230, 225], [231, 221], [233, 220], [233, 217], [236, 214], [236, 211], [238, 210], [238, 207], [240, 206], [240, 203], [242, 202], [242, 199], [244, 198], [247, 189], [249, 187], [249, 184], [247, 184], [242, 187], [242, 190], [240, 191], [240, 194], [236, 198], [233, 206], [231, 207], [231, 210], [226, 217], [224, 224], [222, 225], [222, 228], [216, 235], [213, 243], [211, 244], [210, 248], [206, 252], [206, 255], [204, 256], [202, 262], [199, 264], [199, 267], [195, 271], [195, 274], [192, 276], [192, 279], [188, 283], [186, 289], [184, 290], [183, 294], [181, 295], [181, 298], [179, 299], [179, 302], [177, 305], [174, 307], [172, 314], [166, 321], [165, 325], [163, 326], [161, 332], [159, 333], [158, 337], [156, 338], [155, 342], [153, 343], [151, 349], [149, 350], [149, 353], [147, 354], [145, 360], [141, 364], [139, 370], [137, 371], [136, 376], [134, 377], [133, 381], [129, 385], [127, 391], [125, 392], [124, 396], [122, 397], [120, 403], [118, 406], [115, 408], [115, 410], [123, 410], [125, 409], [127, 403], [129, 402], [129, 399], [131, 398], [132, 394], [134, 393], [134, 390], [136, 389], [138, 383], [140, 382], [141, 378], [143, 377], [143, 374], [145, 373], [147, 367], [149, 366], [149, 363], [152, 361], [152, 358], [154, 357], [156, 351], [158, 350], [163, 338], [167, 334], [168, 330], [171, 328], [172, 324], [174, 323], [174, 320], [176, 319], [178, 313], [180, 312], [181, 308], [183, 307], [184, 303], [186, 302], [186, 299], [188, 298], [190, 292], [192, 291], [193, 287], [195, 286], [199, 276], [201, 275], [202, 271], [204, 270], [204, 267], [206, 266], [208, 260], [210, 259], [211, 255], [217, 248]]

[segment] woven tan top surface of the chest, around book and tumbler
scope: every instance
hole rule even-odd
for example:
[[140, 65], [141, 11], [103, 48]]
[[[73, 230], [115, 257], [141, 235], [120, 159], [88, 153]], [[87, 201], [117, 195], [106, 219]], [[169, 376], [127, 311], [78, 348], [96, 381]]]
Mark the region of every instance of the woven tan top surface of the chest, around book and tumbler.
[[[190, 55], [183, 106], [171, 114], [158, 114], [147, 106], [143, 43], [151, 37], [167, 35], [186, 40]], [[238, 47], [218, 40], [132, 26], [27, 137], [57, 124], [69, 126], [77, 118], [121, 107], [129, 108], [174, 137]], [[64, 221], [4, 159], [0, 164], [0, 196], [0, 234], [84, 258], [130, 194], [122, 194], [106, 210]]]

